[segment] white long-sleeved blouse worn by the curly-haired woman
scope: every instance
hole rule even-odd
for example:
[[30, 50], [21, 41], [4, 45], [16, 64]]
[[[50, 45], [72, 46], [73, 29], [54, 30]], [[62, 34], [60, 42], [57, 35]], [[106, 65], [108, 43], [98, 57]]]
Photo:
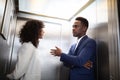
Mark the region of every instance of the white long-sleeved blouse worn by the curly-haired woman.
[[18, 50], [15, 70], [7, 75], [10, 79], [41, 80], [40, 54], [31, 42], [23, 43]]

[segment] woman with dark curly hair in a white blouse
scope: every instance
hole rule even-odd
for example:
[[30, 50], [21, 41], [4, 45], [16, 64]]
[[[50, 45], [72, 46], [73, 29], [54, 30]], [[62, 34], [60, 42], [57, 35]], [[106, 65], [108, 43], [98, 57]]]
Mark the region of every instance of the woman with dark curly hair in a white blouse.
[[37, 49], [39, 39], [43, 38], [44, 24], [42, 21], [27, 21], [20, 30], [19, 37], [22, 46], [18, 50], [18, 60], [15, 69], [8, 74], [9, 79], [40, 80], [40, 54]]

